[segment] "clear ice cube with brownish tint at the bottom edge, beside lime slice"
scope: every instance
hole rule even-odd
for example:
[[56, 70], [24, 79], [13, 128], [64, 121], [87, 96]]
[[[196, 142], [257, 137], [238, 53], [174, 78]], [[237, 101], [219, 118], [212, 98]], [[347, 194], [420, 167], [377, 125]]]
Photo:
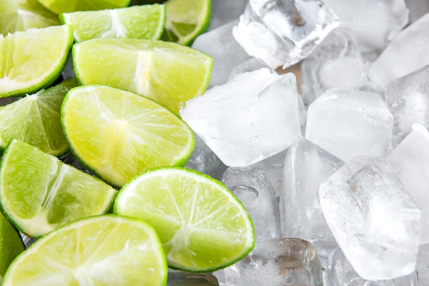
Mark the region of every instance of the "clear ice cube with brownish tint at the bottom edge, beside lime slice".
[[247, 257], [225, 268], [225, 285], [322, 286], [317, 251], [297, 238], [257, 242]]

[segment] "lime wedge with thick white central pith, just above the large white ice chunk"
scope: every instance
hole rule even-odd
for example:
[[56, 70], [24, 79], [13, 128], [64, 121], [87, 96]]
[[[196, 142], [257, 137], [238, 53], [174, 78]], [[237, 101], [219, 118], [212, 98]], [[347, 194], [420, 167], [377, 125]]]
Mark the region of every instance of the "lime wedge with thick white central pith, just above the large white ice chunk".
[[177, 114], [186, 101], [205, 92], [212, 58], [160, 40], [95, 39], [73, 46], [73, 64], [82, 84], [130, 90]]

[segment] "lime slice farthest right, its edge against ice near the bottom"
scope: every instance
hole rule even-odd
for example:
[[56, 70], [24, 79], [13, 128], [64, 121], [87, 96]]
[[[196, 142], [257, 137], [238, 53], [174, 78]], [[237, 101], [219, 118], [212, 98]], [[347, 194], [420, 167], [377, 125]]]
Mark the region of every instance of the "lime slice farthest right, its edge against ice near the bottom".
[[114, 213], [145, 220], [158, 233], [169, 267], [210, 272], [245, 257], [254, 228], [221, 182], [185, 168], [149, 170], [127, 183]]

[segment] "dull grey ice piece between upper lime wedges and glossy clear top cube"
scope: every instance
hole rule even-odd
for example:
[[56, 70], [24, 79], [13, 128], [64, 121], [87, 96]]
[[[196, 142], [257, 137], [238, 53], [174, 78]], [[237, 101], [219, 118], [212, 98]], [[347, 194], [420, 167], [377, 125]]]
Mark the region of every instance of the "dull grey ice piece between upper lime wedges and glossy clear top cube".
[[228, 81], [232, 70], [249, 59], [249, 55], [232, 36], [232, 27], [236, 22], [232, 21], [201, 34], [192, 44], [194, 49], [213, 58], [209, 88]]

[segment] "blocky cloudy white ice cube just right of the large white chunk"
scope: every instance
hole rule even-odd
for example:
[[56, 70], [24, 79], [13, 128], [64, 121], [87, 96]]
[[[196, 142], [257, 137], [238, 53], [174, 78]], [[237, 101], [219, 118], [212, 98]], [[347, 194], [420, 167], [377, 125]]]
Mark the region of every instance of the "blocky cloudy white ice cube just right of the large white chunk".
[[332, 89], [308, 107], [305, 137], [343, 161], [358, 155], [387, 157], [392, 125], [379, 94]]

